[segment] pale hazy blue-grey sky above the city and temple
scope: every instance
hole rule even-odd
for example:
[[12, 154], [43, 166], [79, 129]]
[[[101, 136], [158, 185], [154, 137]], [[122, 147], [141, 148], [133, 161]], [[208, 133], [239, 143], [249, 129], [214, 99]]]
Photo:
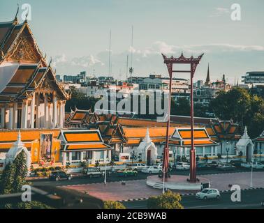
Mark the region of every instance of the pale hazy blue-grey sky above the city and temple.
[[[225, 74], [234, 83], [248, 71], [264, 70], [263, 0], [0, 0], [0, 22], [19, 20], [31, 6], [29, 26], [57, 75], [108, 75], [111, 30], [112, 76], [126, 78], [126, 59], [133, 52], [134, 74], [168, 77], [161, 53], [198, 56], [205, 53], [195, 79]], [[231, 20], [233, 3], [241, 20]], [[133, 47], [131, 26], [133, 25]], [[175, 74], [186, 77], [186, 74]]]

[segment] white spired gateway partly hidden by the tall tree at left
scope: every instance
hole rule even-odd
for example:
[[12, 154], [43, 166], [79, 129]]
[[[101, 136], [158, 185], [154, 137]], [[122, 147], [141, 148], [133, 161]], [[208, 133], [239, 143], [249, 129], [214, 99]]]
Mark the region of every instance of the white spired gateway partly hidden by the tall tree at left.
[[27, 150], [27, 148], [24, 146], [24, 144], [21, 141], [21, 133], [18, 132], [17, 141], [13, 144], [13, 146], [9, 149], [8, 153], [6, 153], [6, 165], [8, 163], [12, 163], [15, 160], [15, 157], [17, 157], [18, 154], [20, 154], [22, 151], [26, 154], [27, 159], [27, 169], [30, 169], [31, 165], [31, 154]]

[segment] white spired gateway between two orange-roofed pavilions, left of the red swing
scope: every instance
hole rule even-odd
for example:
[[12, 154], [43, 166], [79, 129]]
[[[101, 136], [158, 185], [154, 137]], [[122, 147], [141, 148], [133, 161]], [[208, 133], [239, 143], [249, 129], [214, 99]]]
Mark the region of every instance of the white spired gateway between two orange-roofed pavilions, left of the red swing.
[[158, 149], [149, 137], [149, 129], [147, 128], [146, 136], [137, 148], [138, 153], [142, 153], [142, 161], [147, 164], [154, 164], [158, 155]]

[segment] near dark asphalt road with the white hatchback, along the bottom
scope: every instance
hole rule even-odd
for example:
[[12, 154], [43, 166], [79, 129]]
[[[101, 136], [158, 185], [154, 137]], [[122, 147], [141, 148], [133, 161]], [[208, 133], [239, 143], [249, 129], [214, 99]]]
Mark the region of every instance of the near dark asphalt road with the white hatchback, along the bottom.
[[[260, 209], [261, 201], [264, 201], [264, 190], [242, 190], [241, 202], [233, 202], [230, 199], [231, 192], [221, 193], [220, 200], [198, 200], [194, 195], [182, 197], [184, 209]], [[147, 200], [126, 201], [124, 206], [129, 209], [146, 209]]]

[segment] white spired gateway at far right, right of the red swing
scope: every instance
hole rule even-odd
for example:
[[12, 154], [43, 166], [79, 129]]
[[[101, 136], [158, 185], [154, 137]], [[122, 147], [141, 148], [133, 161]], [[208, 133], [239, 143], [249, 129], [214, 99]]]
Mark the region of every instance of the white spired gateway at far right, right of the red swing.
[[247, 126], [244, 128], [244, 134], [237, 141], [237, 153], [242, 152], [242, 156], [246, 157], [247, 162], [252, 161], [253, 152], [254, 152], [254, 144], [247, 134]]

